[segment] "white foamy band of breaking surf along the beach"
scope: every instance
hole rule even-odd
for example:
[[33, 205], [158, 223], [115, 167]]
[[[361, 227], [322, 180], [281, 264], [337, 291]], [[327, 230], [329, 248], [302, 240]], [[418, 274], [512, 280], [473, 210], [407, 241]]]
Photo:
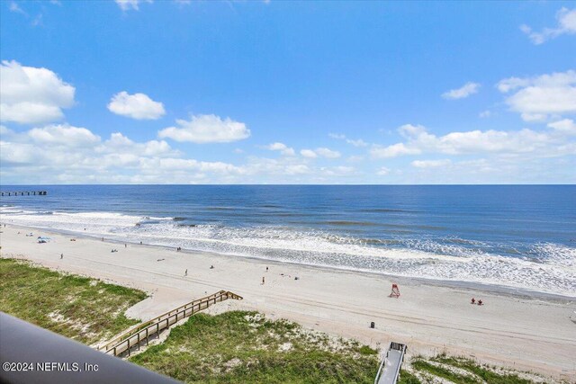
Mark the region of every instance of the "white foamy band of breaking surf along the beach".
[[320, 229], [231, 227], [194, 224], [183, 217], [30, 211], [14, 206], [0, 207], [0, 218], [4, 223], [156, 246], [576, 296], [576, 248], [553, 243], [526, 246], [459, 237], [363, 238]]

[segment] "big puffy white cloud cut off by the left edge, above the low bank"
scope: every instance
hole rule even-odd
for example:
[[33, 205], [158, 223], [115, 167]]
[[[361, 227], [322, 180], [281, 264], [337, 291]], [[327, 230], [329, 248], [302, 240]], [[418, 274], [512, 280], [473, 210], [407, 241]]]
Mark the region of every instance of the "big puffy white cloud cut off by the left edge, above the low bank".
[[74, 105], [76, 89], [46, 68], [16, 61], [0, 66], [0, 120], [21, 124], [58, 121]]

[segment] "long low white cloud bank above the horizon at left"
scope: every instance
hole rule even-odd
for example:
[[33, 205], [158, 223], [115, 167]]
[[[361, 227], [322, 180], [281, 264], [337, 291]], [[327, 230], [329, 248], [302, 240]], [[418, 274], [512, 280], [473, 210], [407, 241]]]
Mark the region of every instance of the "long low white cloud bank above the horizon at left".
[[207, 177], [225, 183], [247, 172], [182, 158], [166, 141], [135, 142], [119, 132], [103, 141], [89, 129], [65, 125], [3, 134], [0, 145], [3, 180], [18, 183], [199, 183]]

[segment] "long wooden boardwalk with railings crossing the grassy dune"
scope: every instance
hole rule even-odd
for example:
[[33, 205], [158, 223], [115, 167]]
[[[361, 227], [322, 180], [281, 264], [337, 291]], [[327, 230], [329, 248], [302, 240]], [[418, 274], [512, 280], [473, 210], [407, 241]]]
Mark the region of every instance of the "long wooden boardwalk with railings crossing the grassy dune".
[[220, 290], [210, 296], [206, 296], [202, 299], [195, 299], [183, 306], [172, 309], [163, 315], [154, 317], [144, 323], [140, 323], [138, 326], [133, 326], [129, 330], [121, 333], [121, 335], [117, 335], [106, 344], [100, 345], [97, 349], [98, 351], [113, 354], [114, 356], [128, 352], [128, 355], [130, 356], [130, 349], [135, 346], [138, 346], [139, 348], [140, 343], [143, 341], [148, 345], [148, 338], [151, 335], [159, 334], [160, 331], [174, 325], [184, 317], [191, 317], [194, 313], [200, 312], [202, 309], [206, 309], [211, 305], [226, 299], [241, 300], [242, 297], [238, 296], [236, 293], [230, 292], [229, 290]]

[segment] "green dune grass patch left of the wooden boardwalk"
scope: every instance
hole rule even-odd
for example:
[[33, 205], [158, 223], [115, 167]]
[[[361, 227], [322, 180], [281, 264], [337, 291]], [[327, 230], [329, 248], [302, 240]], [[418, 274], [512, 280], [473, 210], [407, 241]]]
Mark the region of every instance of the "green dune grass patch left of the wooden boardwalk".
[[0, 258], [0, 310], [85, 344], [139, 323], [124, 311], [146, 297], [140, 290]]

